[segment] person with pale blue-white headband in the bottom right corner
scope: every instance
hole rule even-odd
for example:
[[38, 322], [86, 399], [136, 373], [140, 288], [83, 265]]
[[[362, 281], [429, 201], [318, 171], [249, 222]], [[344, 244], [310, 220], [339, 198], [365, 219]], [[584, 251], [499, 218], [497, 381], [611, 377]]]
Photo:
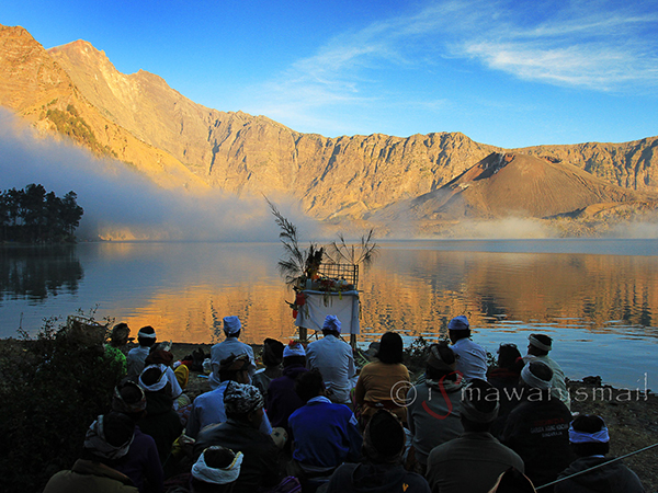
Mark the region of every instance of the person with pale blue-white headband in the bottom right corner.
[[[555, 484], [555, 493], [644, 493], [637, 474], [621, 461], [601, 466], [612, 459], [605, 457], [610, 451], [610, 435], [602, 417], [589, 414], [576, 417], [569, 427], [569, 442], [578, 459], [558, 479], [578, 475]], [[588, 469], [591, 471], [583, 472]]]

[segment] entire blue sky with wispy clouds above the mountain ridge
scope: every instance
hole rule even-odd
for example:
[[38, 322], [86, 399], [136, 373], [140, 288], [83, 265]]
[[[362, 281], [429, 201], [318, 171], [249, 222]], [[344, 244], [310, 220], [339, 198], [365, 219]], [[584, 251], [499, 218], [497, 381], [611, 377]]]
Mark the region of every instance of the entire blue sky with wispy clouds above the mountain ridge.
[[658, 135], [658, 2], [14, 1], [46, 48], [327, 137], [462, 131], [507, 148]]

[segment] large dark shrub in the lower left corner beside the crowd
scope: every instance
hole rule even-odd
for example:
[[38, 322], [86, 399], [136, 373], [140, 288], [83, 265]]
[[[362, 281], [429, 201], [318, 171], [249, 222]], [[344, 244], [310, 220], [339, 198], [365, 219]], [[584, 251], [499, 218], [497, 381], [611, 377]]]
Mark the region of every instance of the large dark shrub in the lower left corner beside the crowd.
[[99, 333], [84, 340], [48, 319], [35, 339], [3, 341], [1, 491], [43, 490], [73, 465], [89, 425], [110, 410], [121, 369], [104, 358], [105, 325]]

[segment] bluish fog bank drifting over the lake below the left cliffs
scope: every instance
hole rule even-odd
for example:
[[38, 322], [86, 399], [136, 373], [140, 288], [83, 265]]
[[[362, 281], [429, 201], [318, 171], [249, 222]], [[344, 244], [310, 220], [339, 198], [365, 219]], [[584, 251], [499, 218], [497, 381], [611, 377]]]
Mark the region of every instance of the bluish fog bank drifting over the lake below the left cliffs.
[[[41, 136], [0, 108], [0, 188], [39, 183], [63, 196], [78, 194], [86, 240], [277, 241], [279, 229], [262, 196], [213, 190], [164, 190], [114, 159], [98, 159], [64, 139]], [[303, 238], [317, 221], [293, 199], [270, 197], [298, 226]]]

